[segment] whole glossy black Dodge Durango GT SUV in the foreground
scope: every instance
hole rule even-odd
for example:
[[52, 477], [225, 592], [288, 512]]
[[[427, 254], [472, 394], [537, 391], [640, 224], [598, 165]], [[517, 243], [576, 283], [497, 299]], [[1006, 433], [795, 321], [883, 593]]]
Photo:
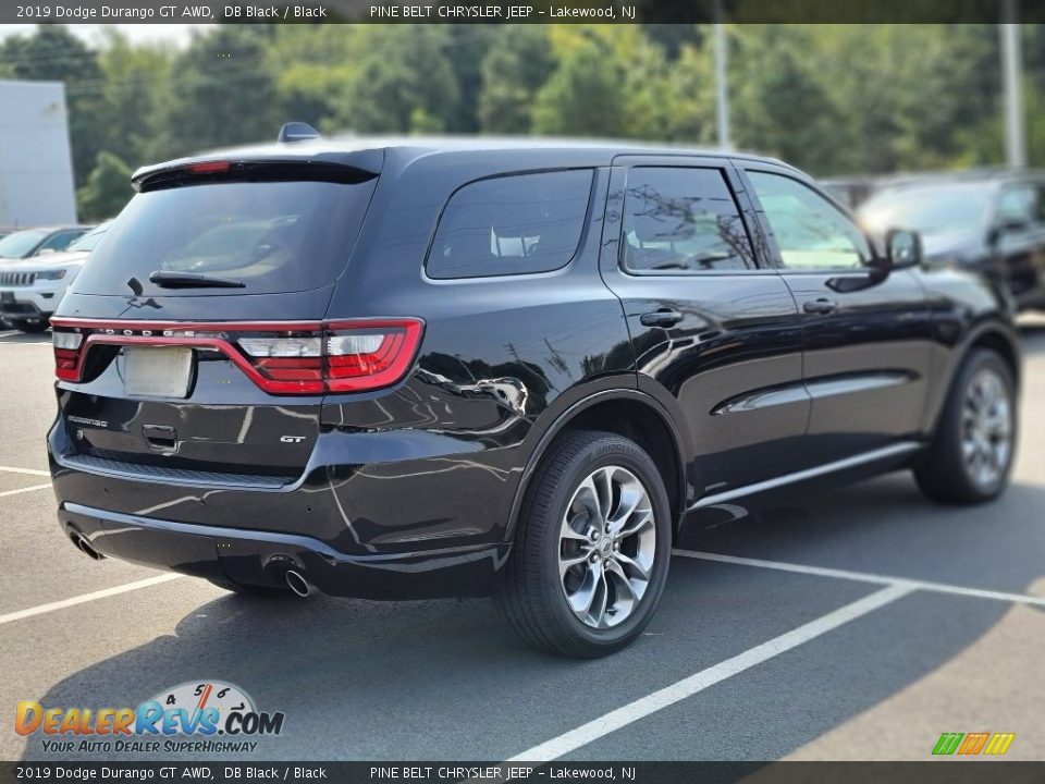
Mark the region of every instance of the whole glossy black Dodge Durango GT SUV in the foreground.
[[[306, 134], [300, 134], [306, 135]], [[150, 167], [52, 319], [59, 520], [255, 595], [493, 593], [600, 656], [690, 513], [913, 468], [984, 501], [1019, 353], [982, 277], [754, 157], [318, 138]]]

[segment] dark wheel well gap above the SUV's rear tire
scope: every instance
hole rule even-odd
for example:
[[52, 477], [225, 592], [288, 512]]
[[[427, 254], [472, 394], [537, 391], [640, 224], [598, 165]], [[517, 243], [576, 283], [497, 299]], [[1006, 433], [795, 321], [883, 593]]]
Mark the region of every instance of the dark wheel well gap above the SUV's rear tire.
[[650, 455], [664, 480], [672, 507], [672, 528], [677, 535], [685, 503], [684, 475], [678, 444], [656, 409], [637, 400], [608, 400], [585, 408], [566, 424], [560, 434], [574, 430], [601, 430], [624, 436]]

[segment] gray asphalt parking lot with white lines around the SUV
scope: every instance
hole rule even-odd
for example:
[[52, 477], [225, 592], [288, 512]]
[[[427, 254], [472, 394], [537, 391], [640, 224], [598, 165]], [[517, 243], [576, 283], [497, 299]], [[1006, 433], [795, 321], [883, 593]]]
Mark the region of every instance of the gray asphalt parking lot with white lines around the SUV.
[[0, 332], [0, 759], [59, 758], [14, 732], [20, 700], [199, 679], [285, 713], [259, 760], [924, 760], [943, 732], [1045, 759], [1045, 320], [1023, 332], [1001, 500], [936, 506], [895, 475], [709, 523], [648, 633], [593, 662], [522, 648], [485, 601], [266, 602], [88, 560], [46, 475], [50, 336]]

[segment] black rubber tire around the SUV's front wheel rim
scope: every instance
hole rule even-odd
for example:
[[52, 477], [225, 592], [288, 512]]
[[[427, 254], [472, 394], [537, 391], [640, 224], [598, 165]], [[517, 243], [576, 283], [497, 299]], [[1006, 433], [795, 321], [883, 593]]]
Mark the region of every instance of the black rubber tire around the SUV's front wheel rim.
[[[1001, 382], [1009, 411], [1009, 446], [1004, 465], [989, 480], [975, 475], [963, 458], [962, 441], [970, 426], [966, 419], [971, 385], [982, 373]], [[950, 395], [936, 426], [933, 443], [914, 468], [914, 478], [922, 492], [935, 501], [950, 504], [975, 504], [997, 498], [1008, 486], [1016, 454], [1017, 428], [1016, 383], [1005, 359], [988, 348], [976, 348], [966, 357], [955, 379]]]

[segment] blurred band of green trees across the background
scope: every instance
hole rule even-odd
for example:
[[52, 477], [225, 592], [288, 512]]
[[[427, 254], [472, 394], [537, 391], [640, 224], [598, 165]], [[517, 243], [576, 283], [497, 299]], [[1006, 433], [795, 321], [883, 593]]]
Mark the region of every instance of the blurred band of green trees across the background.
[[[993, 25], [727, 30], [739, 147], [820, 175], [1001, 162]], [[1045, 30], [1023, 35], [1030, 156], [1042, 166]], [[45, 25], [0, 41], [0, 78], [65, 83], [85, 215], [96, 174], [112, 176], [115, 161], [269, 140], [287, 120], [324, 133], [716, 143], [708, 25], [218, 25], [182, 49], [112, 30], [88, 46]]]

